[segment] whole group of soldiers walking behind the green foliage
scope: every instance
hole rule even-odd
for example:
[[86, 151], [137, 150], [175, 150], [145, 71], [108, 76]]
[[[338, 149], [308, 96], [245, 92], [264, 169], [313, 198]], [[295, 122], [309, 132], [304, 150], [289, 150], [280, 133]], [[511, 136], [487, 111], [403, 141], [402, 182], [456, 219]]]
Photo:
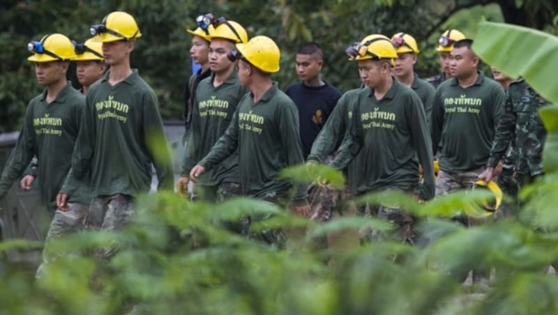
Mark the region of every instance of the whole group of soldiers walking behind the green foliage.
[[[436, 49], [444, 71], [428, 80], [414, 72], [420, 51], [408, 33], [365, 36], [345, 51], [363, 85], [345, 93], [322, 79], [322, 47], [306, 43], [296, 52], [301, 80], [283, 92], [271, 78], [280, 70], [280, 49], [271, 38], [249, 38], [241, 24], [212, 14], [196, 22], [197, 29], [188, 30], [190, 57], [201, 68], [184, 92], [185, 155], [176, 183], [189, 198], [220, 202], [248, 196], [327, 221], [341, 199], [368, 192], [396, 190], [428, 201], [488, 185], [497, 176], [513, 196], [543, 174], [545, 129], [537, 109], [547, 102], [522, 79], [496, 70], [498, 83], [485, 77], [473, 40], [458, 30], [440, 36]], [[41, 179], [41, 197], [56, 208], [47, 245], [84, 226], [128, 224], [135, 197], [149, 192], [151, 165], [158, 189], [173, 189], [170, 153], [160, 145], [166, 139], [156, 95], [130, 67], [142, 36], [134, 17], [110, 13], [91, 26], [91, 35], [83, 44], [61, 34], [29, 43], [28, 60], [45, 91], [29, 102], [0, 178], [0, 197], [22, 175], [24, 189], [36, 176]], [[66, 80], [70, 61], [77, 61], [80, 91]], [[23, 174], [33, 156], [38, 171]], [[342, 170], [346, 190], [309, 188], [279, 176], [285, 167], [305, 162]], [[416, 241], [415, 218], [405, 209], [370, 204], [359, 206], [358, 213], [389, 220], [400, 240]], [[280, 229], [252, 233], [256, 220], [266, 217], [226, 225], [249, 238], [285, 245]], [[467, 216], [460, 220], [471, 223]], [[50, 259], [46, 249], [38, 276]], [[110, 256], [113, 250], [99, 254]]]

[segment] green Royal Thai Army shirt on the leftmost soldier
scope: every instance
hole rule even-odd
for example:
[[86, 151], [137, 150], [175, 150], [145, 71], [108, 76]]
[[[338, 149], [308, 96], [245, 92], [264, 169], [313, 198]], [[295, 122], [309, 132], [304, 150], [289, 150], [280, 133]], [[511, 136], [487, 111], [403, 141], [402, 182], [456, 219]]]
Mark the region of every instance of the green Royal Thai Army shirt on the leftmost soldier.
[[[70, 82], [56, 99], [47, 104], [47, 90], [33, 98], [27, 106], [24, 123], [0, 179], [0, 196], [3, 197], [13, 182], [27, 168], [36, 155], [40, 196], [49, 206], [56, 207], [56, 194], [70, 170], [72, 152], [80, 130], [80, 118], [85, 98]], [[89, 204], [89, 187], [74, 183], [70, 202]]]

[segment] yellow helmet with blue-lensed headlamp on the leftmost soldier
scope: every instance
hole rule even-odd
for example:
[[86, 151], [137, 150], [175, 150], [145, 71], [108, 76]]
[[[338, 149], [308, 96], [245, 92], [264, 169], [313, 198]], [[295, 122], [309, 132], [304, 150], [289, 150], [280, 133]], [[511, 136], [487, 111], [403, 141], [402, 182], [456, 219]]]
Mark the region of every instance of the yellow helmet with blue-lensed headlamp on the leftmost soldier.
[[58, 33], [43, 36], [38, 42], [29, 42], [27, 49], [33, 53], [27, 60], [34, 62], [73, 60], [75, 58], [74, 45], [70, 38]]

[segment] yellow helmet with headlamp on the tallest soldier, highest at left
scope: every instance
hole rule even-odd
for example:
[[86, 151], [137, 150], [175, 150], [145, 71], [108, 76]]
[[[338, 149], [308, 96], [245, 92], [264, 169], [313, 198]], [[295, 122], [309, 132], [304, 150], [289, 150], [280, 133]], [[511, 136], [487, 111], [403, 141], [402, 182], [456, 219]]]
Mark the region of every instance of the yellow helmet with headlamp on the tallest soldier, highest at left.
[[132, 15], [115, 11], [107, 15], [103, 22], [91, 26], [91, 35], [102, 43], [116, 42], [117, 40], [133, 40], [142, 37], [142, 32]]

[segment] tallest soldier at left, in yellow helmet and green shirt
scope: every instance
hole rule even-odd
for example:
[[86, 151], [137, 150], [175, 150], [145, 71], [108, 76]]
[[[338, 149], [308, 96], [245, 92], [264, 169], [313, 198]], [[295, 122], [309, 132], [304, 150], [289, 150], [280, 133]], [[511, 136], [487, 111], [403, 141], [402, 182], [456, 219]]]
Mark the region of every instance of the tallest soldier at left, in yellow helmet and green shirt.
[[[121, 229], [133, 218], [134, 198], [151, 188], [152, 163], [158, 188], [172, 190], [172, 163], [167, 146], [158, 145], [167, 139], [157, 97], [137, 70], [130, 68], [135, 40], [142, 36], [134, 18], [125, 12], [110, 13], [91, 27], [91, 33], [103, 43], [110, 70], [87, 93], [69, 176], [91, 176], [88, 226]], [[59, 208], [66, 208], [68, 194], [61, 190]], [[96, 254], [107, 257], [111, 253], [102, 249]]]

